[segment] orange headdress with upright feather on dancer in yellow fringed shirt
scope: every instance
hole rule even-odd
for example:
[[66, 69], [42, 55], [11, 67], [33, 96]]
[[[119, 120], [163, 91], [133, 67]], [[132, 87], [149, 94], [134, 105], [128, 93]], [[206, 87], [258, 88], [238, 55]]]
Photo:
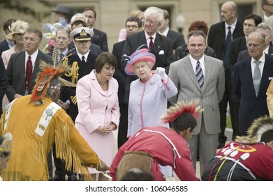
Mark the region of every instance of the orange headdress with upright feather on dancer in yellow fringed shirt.
[[43, 100], [45, 97], [47, 88], [50, 86], [50, 81], [52, 78], [57, 77], [61, 85], [63, 86], [76, 86], [65, 79], [62, 79], [61, 76], [70, 70], [68, 65], [63, 65], [63, 63], [57, 63], [57, 56], [59, 56], [59, 50], [54, 49], [52, 60], [53, 65], [45, 63], [45, 61], [40, 61], [40, 72], [36, 78], [36, 85], [32, 91], [31, 101], [36, 102], [38, 100]]

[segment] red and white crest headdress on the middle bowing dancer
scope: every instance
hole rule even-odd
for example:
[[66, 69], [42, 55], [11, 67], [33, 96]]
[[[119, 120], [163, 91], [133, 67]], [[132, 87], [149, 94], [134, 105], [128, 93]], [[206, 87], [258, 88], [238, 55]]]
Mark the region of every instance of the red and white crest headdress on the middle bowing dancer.
[[198, 106], [198, 102], [198, 100], [192, 100], [190, 102], [177, 102], [177, 104], [167, 110], [167, 114], [161, 118], [161, 122], [171, 123], [175, 120], [175, 118], [186, 112], [192, 114], [195, 116], [195, 118], [198, 118], [199, 114], [204, 110]]

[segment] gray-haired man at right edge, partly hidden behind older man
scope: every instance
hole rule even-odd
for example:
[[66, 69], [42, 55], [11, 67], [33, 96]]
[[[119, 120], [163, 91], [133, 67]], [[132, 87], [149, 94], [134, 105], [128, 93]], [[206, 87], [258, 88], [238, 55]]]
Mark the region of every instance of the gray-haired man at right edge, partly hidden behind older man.
[[[272, 42], [272, 27], [266, 23], [260, 23], [256, 27], [256, 31], [259, 33], [262, 33], [265, 36], [265, 48], [263, 49], [263, 52], [265, 54], [268, 54], [270, 56], [273, 56], [273, 47], [270, 45]], [[249, 51], [246, 49], [242, 52], [239, 52], [237, 62], [242, 61], [243, 59], [246, 59], [249, 57]]]

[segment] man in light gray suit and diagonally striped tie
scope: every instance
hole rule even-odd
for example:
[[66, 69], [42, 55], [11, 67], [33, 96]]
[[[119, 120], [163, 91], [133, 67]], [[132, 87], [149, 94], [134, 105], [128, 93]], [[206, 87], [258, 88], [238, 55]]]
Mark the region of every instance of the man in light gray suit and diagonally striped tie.
[[[223, 61], [206, 56], [206, 36], [203, 31], [191, 31], [188, 34], [189, 55], [170, 64], [169, 77], [177, 86], [178, 93], [170, 102], [200, 100], [205, 110], [198, 118], [198, 125], [189, 139], [191, 159], [196, 171], [199, 146], [200, 173], [207, 162], [216, 155], [220, 132], [219, 102], [225, 90], [225, 71]], [[196, 74], [196, 75], [195, 75]]]

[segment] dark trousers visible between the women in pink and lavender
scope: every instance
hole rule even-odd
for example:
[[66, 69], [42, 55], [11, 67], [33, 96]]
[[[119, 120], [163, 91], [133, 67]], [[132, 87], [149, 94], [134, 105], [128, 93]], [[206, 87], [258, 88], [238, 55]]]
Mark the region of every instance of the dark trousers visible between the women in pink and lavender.
[[127, 140], [128, 131], [128, 104], [119, 104], [119, 132], [117, 135], [117, 147], [120, 148]]

